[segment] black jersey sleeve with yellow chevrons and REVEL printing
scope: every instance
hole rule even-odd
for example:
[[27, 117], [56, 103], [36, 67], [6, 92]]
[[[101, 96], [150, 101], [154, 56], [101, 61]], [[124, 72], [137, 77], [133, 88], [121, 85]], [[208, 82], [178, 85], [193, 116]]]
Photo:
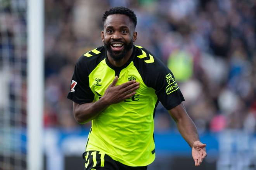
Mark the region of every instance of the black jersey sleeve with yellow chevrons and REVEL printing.
[[[136, 57], [142, 56], [143, 53], [147, 57]], [[185, 100], [173, 73], [160, 59], [154, 57], [147, 49], [137, 47], [137, 54], [135, 54], [133, 63], [142, 76], [145, 85], [156, 90], [158, 100], [167, 110], [174, 108]]]

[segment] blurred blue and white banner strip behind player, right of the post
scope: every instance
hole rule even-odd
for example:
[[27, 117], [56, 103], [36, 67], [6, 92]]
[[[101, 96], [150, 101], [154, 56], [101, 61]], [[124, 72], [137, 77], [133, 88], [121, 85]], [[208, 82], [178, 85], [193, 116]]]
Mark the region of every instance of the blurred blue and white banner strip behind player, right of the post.
[[[82, 153], [90, 129], [47, 129], [45, 155], [47, 170], [83, 169]], [[200, 134], [207, 144], [208, 156], [200, 167], [194, 166], [191, 149], [177, 131], [154, 133], [156, 160], [149, 170], [253, 170], [256, 168], [256, 135], [225, 130]], [[76, 165], [74, 167], [74, 165]]]

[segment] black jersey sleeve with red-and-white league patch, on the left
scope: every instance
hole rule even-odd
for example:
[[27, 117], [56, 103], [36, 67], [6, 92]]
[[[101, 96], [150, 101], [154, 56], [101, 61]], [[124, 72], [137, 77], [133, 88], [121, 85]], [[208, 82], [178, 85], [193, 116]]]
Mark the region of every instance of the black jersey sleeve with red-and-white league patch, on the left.
[[81, 56], [75, 65], [71, 88], [67, 98], [78, 104], [93, 102], [94, 93], [89, 86], [85, 56]]

